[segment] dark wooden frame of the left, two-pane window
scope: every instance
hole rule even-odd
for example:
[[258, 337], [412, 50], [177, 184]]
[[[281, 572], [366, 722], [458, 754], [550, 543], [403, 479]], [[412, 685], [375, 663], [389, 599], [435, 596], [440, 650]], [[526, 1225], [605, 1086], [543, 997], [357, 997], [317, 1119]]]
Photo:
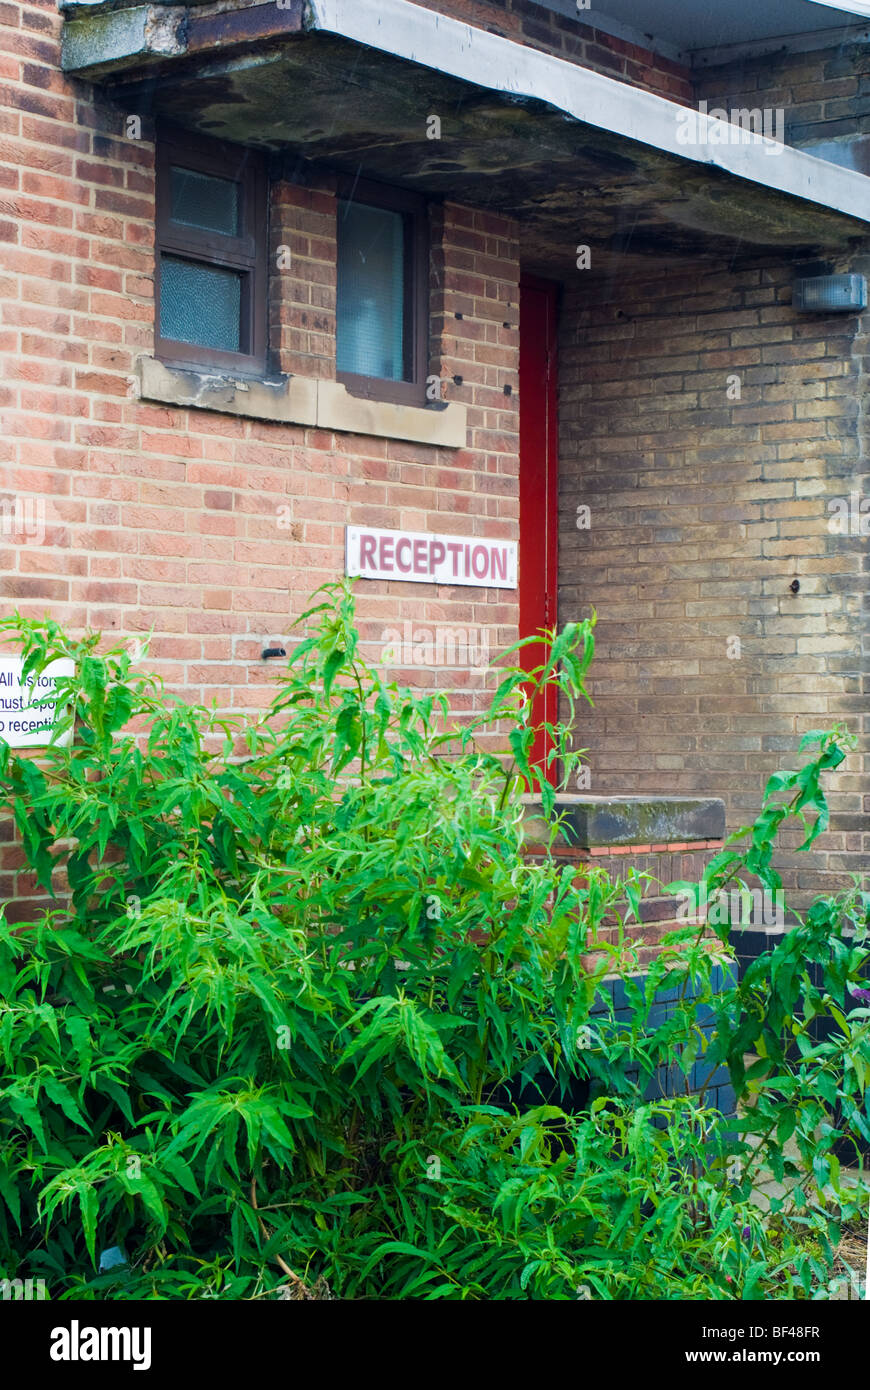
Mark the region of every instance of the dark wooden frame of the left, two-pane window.
[[[225, 236], [196, 227], [182, 227], [170, 218], [170, 170], [172, 165], [196, 174], [211, 174], [239, 185], [240, 235]], [[157, 136], [157, 227], [154, 270], [154, 354], [174, 367], [229, 370], [239, 375], [263, 375], [267, 363], [267, 175], [260, 152], [240, 145], [206, 139], [186, 131], [158, 131]], [[235, 270], [242, 274], [239, 341], [243, 352], [227, 352], [164, 338], [160, 332], [161, 260], [178, 256], [200, 265]]]

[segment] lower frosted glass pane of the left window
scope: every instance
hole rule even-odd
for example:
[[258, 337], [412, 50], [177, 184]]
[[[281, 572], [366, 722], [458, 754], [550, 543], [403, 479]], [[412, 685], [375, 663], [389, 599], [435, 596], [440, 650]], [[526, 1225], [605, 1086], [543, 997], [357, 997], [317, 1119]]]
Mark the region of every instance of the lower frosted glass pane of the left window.
[[239, 352], [242, 277], [233, 270], [163, 256], [160, 334], [182, 343]]

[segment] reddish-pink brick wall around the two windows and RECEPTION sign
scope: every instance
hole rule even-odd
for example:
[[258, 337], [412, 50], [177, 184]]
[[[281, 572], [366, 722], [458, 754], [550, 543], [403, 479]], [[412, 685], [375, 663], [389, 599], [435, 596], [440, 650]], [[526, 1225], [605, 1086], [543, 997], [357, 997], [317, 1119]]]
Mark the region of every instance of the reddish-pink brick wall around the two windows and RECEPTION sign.
[[[468, 407], [464, 449], [270, 424], [136, 399], [153, 352], [154, 146], [58, 72], [50, 0], [0, 4], [0, 499], [46, 507], [39, 543], [0, 534], [0, 602], [113, 638], [154, 628], [149, 666], [228, 708], [267, 703], [264, 644], [343, 573], [343, 528], [517, 538], [518, 243], [504, 218], [448, 204], [434, 220], [431, 370]], [[274, 190], [270, 322], [281, 366], [335, 374], [335, 196]], [[275, 261], [272, 260], [272, 264]], [[510, 393], [506, 393], [510, 392]], [[279, 525], [289, 507], [289, 525]], [[517, 635], [514, 591], [360, 581], [366, 653], [385, 632]], [[485, 670], [402, 678], [488, 703]], [[0, 870], [21, 863], [0, 847]], [[31, 885], [19, 884], [21, 891]]]

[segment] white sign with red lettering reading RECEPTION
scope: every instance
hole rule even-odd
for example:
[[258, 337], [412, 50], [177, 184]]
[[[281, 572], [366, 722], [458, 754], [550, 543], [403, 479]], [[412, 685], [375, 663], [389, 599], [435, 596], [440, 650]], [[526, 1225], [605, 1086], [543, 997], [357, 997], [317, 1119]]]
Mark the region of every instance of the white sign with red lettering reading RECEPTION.
[[516, 589], [517, 542], [349, 525], [345, 531], [345, 574], [363, 580]]

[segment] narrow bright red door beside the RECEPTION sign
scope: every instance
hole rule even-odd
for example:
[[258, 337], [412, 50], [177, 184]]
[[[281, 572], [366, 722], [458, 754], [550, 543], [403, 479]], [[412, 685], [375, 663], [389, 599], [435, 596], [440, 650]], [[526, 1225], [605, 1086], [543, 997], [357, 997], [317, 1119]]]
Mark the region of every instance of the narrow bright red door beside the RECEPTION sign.
[[[557, 286], [524, 275], [520, 284], [520, 637], [556, 627], [559, 416], [556, 356]], [[531, 670], [545, 659], [535, 642], [521, 653]], [[532, 709], [532, 723], [555, 723], [557, 692], [545, 688]], [[543, 763], [552, 746], [539, 734], [534, 762]], [[546, 773], [557, 780], [557, 769]]]

